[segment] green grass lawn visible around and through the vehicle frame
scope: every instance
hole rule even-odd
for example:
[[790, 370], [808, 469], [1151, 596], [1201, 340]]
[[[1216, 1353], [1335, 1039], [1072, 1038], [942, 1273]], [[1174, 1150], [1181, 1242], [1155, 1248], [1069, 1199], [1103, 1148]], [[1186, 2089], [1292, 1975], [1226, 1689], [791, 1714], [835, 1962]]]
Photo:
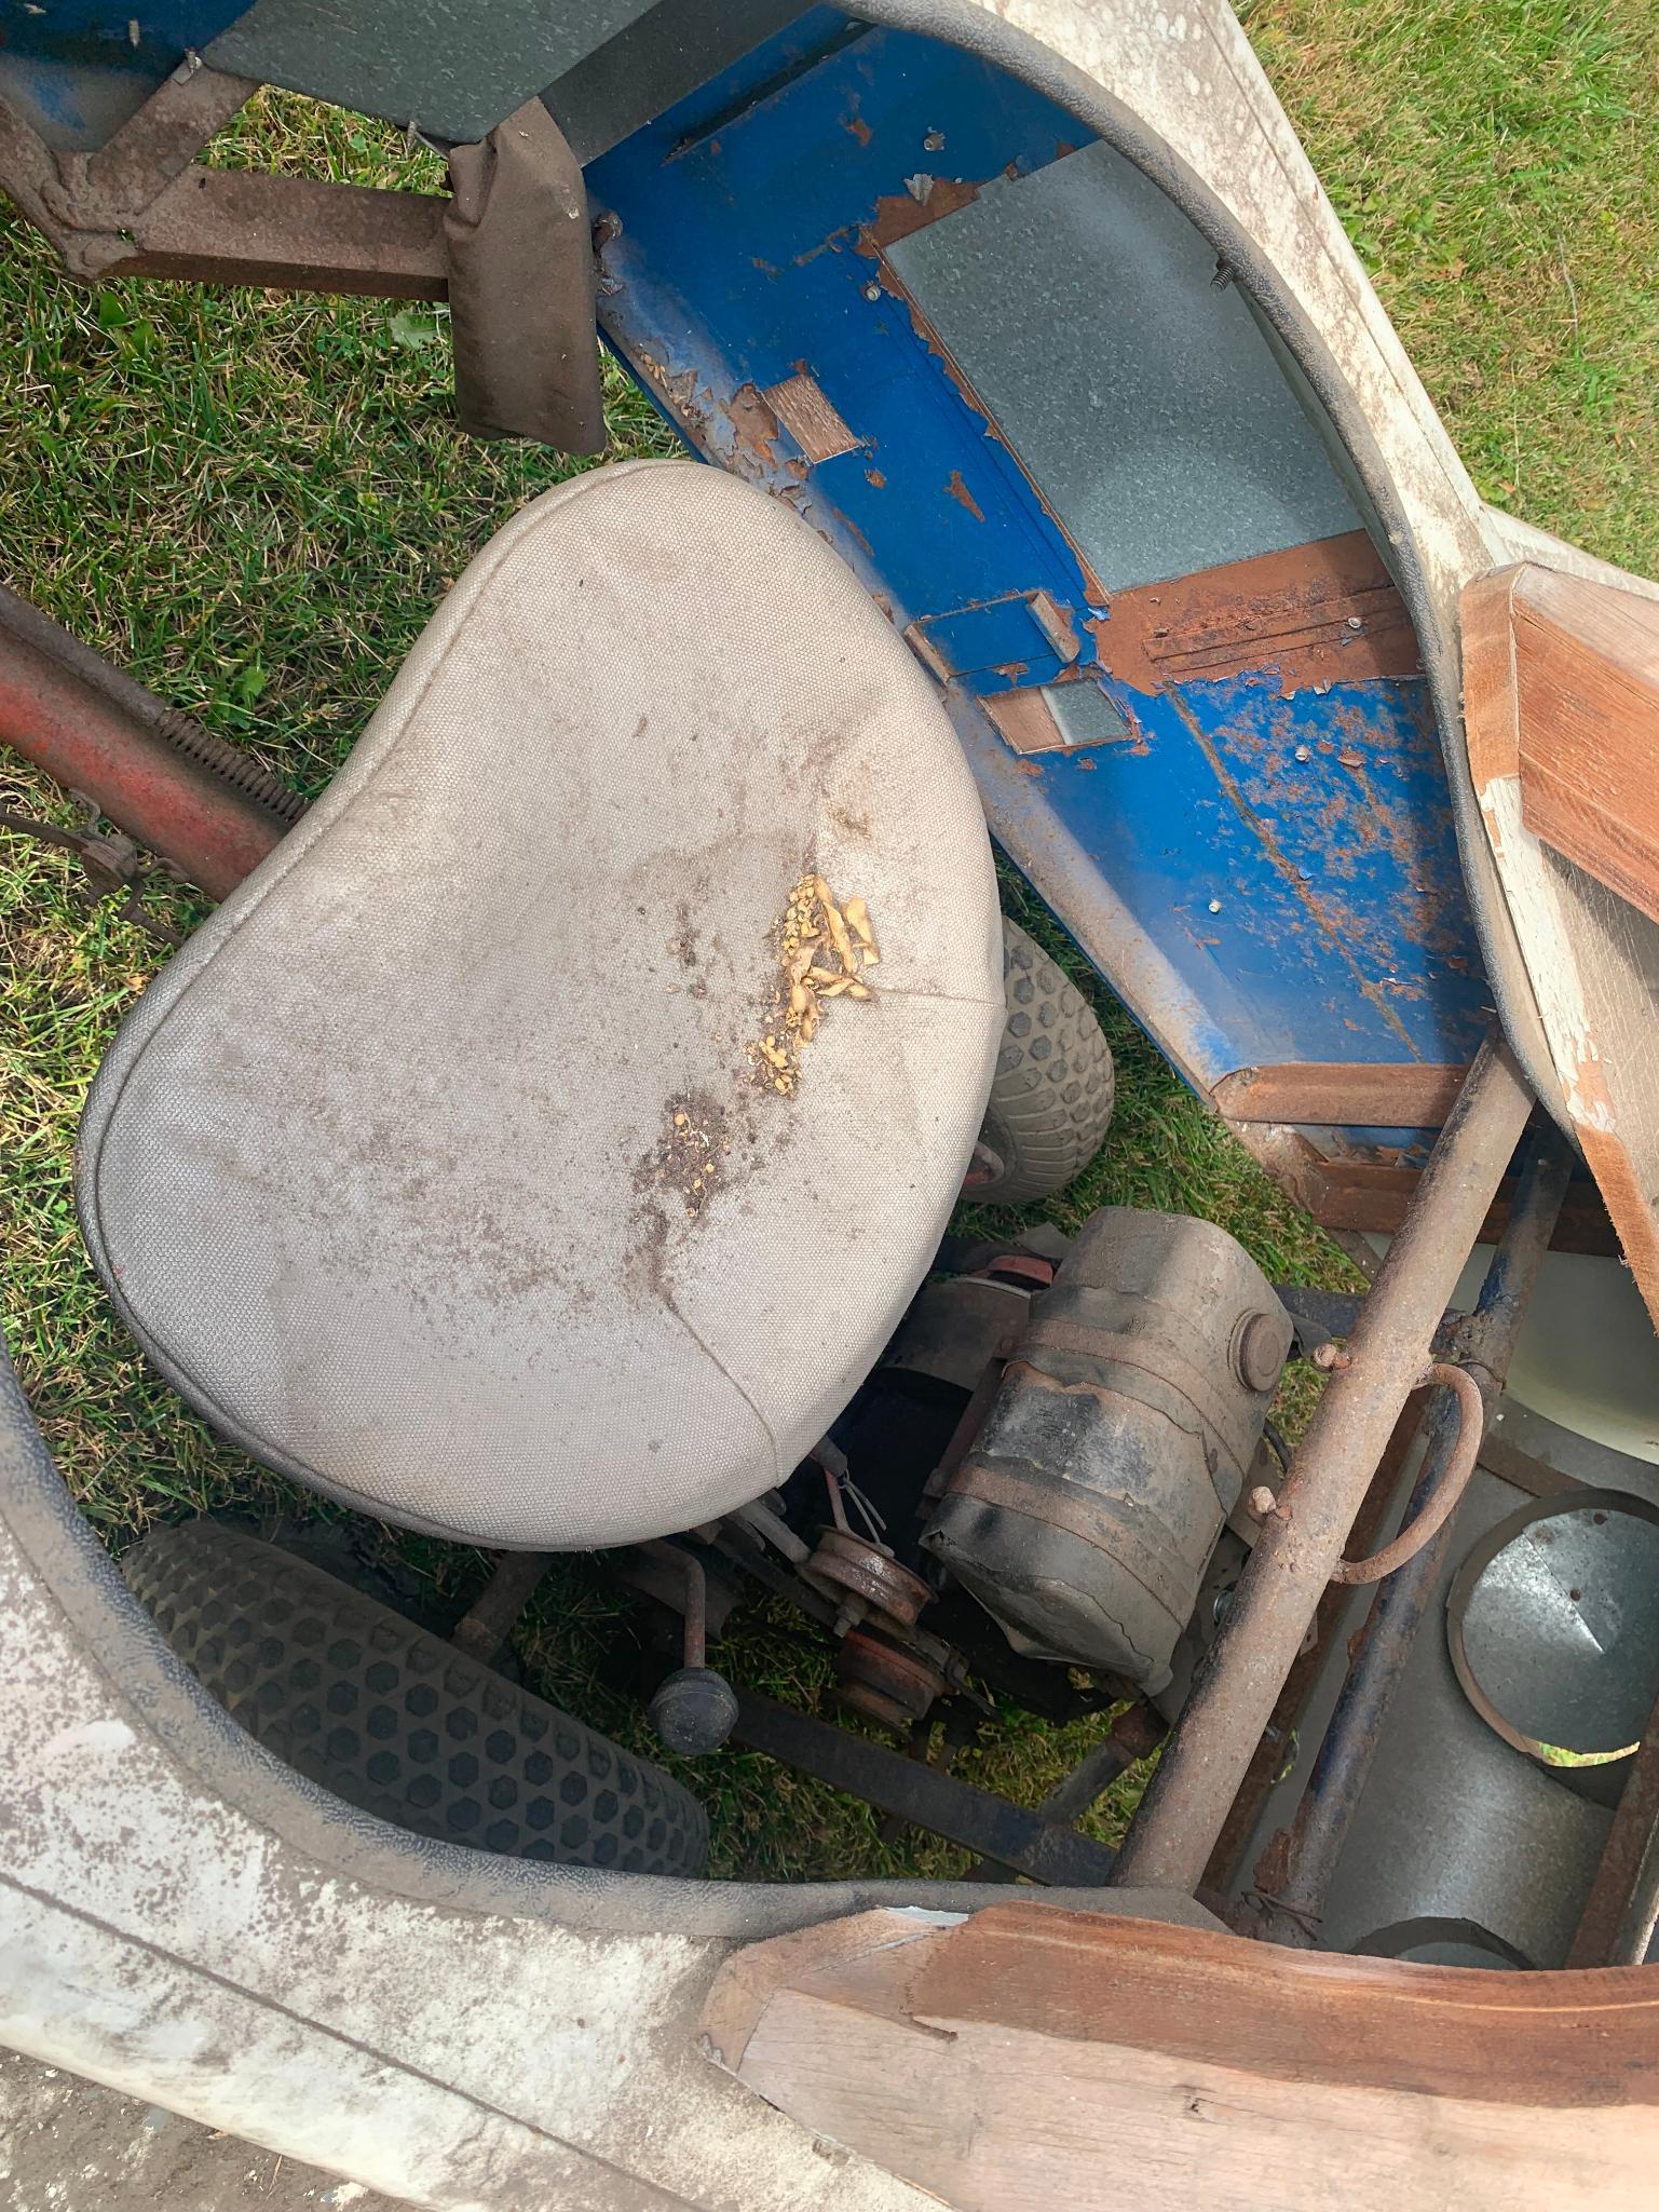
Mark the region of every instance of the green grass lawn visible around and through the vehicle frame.
[[[1307, 139], [1480, 489], [1610, 560], [1659, 571], [1659, 15], [1648, 0], [1254, 0], [1250, 35]], [[436, 181], [372, 124], [261, 97], [223, 159]], [[307, 792], [327, 783], [471, 553], [571, 465], [482, 447], [449, 418], [442, 321], [376, 301], [77, 288], [0, 215], [0, 573], [46, 613]], [[617, 376], [619, 453], [672, 440]], [[0, 807], [64, 816], [0, 754]], [[155, 911], [188, 927], [186, 894]], [[1060, 949], [1018, 885], [1009, 905]], [[119, 1548], [228, 1504], [325, 1511], [146, 1374], [82, 1256], [69, 1159], [115, 1024], [157, 942], [86, 914], [62, 854], [0, 836], [0, 1175], [7, 1332], [84, 1511]], [[1206, 1214], [1274, 1274], [1340, 1281], [1334, 1248], [1179, 1088], [1075, 956], [1119, 1060], [1119, 1113], [1046, 1212], [1128, 1201]], [[460, 1601], [476, 1553], [369, 1531]], [[602, 1568], [551, 1577], [520, 1637], [538, 1686], [650, 1747], [602, 1677], [630, 1606]], [[812, 1699], [827, 1672], [790, 1615], [752, 1610], [734, 1677]], [[958, 1772], [1031, 1798], [1097, 1723], [1011, 1717]], [[723, 1874], [956, 1871], [916, 1834], [765, 1761], [699, 1763]], [[1093, 1816], [1110, 1838], [1130, 1790]]]

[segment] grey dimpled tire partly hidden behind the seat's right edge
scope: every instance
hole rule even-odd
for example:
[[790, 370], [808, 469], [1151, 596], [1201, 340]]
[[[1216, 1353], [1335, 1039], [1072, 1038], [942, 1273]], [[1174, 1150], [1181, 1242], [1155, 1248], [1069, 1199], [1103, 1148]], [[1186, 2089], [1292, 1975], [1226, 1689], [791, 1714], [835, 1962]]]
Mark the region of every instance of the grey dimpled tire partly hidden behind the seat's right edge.
[[1106, 1033], [1077, 984], [1006, 914], [1002, 991], [1009, 1026], [980, 1130], [1002, 1175], [964, 1190], [975, 1206], [1053, 1197], [1084, 1172], [1113, 1126]]

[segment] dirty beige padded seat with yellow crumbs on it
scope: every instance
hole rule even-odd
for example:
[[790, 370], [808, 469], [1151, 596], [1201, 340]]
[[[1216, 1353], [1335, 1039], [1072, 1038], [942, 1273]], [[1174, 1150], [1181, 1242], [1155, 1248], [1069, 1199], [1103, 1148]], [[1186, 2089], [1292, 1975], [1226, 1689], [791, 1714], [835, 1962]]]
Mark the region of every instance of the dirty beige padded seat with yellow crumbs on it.
[[[807, 984], [799, 1042], [812, 876], [878, 964], [847, 933], [872, 995]], [[268, 1467], [489, 1546], [664, 1535], [781, 1482], [874, 1365], [1002, 1018], [978, 794], [863, 586], [730, 476], [597, 469], [478, 555], [133, 1009], [82, 1225]]]

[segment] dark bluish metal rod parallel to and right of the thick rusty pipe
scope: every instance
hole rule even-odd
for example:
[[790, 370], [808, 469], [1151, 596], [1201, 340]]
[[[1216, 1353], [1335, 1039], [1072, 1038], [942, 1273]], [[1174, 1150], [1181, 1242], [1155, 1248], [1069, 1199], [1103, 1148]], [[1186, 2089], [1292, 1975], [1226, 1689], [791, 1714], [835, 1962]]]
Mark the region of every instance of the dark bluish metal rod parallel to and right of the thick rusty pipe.
[[[1502, 1396], [1571, 1172], [1571, 1146], [1553, 1121], [1542, 1121], [1522, 1168], [1509, 1225], [1462, 1329], [1464, 1371], [1480, 1391], [1482, 1420], [1491, 1418]], [[1467, 1416], [1451, 1398], [1438, 1396], [1425, 1422], [1422, 1467], [1407, 1506], [1407, 1526], [1436, 1495], [1453, 1455], [1467, 1444]], [[1371, 1772], [1394, 1692], [1440, 1586], [1451, 1535], [1453, 1526], [1447, 1522], [1431, 1544], [1389, 1575], [1371, 1604], [1296, 1818], [1285, 1836], [1274, 1838], [1259, 1867], [1261, 1933], [1274, 1942], [1310, 1947], [1316, 1938], [1336, 1860]]]

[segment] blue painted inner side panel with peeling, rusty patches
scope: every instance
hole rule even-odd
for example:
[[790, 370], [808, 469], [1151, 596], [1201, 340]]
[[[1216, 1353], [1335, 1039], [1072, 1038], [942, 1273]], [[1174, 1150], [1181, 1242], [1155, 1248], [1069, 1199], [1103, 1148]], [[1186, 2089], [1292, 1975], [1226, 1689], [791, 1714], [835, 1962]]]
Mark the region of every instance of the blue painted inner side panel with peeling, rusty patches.
[[[956, 204], [1075, 142], [1064, 111], [982, 62], [852, 35], [823, 9], [588, 175], [619, 226], [611, 341], [697, 449], [807, 515], [900, 628], [960, 628], [1031, 591], [1079, 617], [1110, 606], [1051, 511], [1062, 487], [1031, 482], [874, 243], [918, 195]], [[757, 400], [799, 369], [856, 451], [812, 467], [770, 434]], [[1166, 369], [1179, 380], [1181, 361]], [[1079, 644], [1088, 668], [1082, 622]], [[1135, 743], [1018, 763], [978, 688], [949, 703], [993, 830], [1192, 1079], [1471, 1055], [1489, 998], [1420, 679], [1290, 699], [1274, 670], [1157, 697], [1108, 679]]]

